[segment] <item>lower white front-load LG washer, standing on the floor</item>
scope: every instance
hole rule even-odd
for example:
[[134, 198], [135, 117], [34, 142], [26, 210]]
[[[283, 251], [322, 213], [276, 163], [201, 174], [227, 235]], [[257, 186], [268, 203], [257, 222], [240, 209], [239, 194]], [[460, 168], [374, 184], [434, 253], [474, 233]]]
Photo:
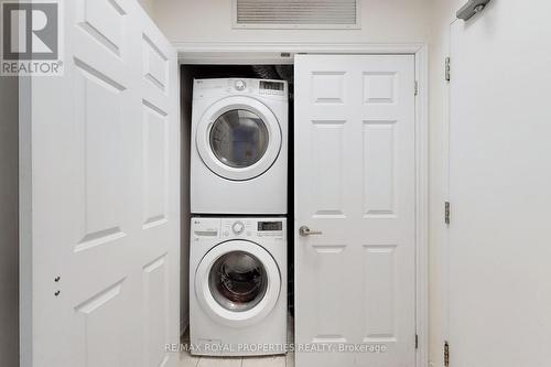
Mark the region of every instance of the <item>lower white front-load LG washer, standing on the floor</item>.
[[192, 354], [284, 354], [287, 299], [285, 218], [192, 218]]

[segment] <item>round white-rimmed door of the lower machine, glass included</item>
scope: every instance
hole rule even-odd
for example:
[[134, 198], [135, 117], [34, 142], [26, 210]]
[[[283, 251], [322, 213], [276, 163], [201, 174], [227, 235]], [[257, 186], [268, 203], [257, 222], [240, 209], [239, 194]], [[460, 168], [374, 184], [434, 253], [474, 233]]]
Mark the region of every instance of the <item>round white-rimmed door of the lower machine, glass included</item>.
[[278, 302], [281, 274], [261, 246], [230, 240], [208, 251], [195, 272], [195, 294], [212, 319], [228, 326], [248, 326]]

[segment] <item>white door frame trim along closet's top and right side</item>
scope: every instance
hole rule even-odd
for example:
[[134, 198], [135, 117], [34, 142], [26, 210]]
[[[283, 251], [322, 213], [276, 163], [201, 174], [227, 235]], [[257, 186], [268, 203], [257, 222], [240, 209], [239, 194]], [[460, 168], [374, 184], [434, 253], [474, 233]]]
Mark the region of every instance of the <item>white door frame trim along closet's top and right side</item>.
[[[426, 43], [175, 42], [180, 64], [294, 64], [295, 54], [413, 55], [415, 62], [417, 366], [429, 365], [429, 46]], [[412, 93], [414, 86], [411, 86]], [[414, 343], [414, 341], [412, 341]]]

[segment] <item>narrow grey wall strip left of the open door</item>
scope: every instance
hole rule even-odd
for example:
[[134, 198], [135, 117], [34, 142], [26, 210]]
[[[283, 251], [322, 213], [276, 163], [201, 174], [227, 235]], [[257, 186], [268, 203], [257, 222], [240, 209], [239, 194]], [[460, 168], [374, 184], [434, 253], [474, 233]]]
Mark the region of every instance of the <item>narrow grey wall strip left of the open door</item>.
[[0, 76], [0, 366], [19, 364], [18, 90]]

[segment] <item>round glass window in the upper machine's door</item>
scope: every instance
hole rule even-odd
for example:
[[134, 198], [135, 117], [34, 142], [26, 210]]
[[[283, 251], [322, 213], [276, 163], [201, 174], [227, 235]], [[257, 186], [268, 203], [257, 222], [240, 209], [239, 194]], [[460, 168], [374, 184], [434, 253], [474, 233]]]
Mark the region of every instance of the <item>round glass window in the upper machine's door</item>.
[[215, 120], [209, 142], [220, 162], [242, 169], [253, 165], [264, 155], [269, 132], [258, 115], [246, 109], [233, 109]]

